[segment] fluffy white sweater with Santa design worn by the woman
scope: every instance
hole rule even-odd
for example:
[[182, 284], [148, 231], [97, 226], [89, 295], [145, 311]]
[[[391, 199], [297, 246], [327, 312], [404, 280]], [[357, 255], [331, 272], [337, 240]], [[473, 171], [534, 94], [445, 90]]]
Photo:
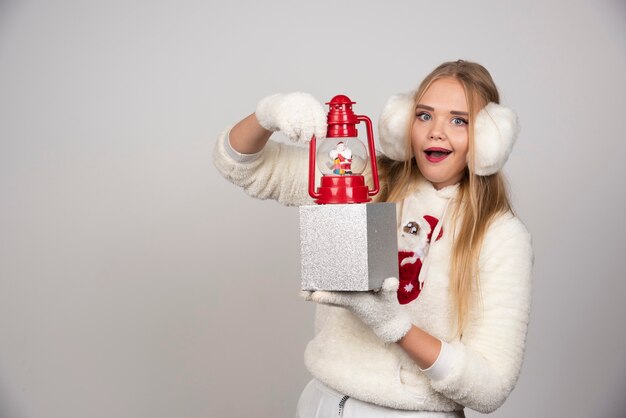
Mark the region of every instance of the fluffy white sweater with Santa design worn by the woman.
[[[219, 172], [250, 195], [286, 205], [311, 204], [307, 151], [269, 141], [254, 155], [235, 152], [228, 133], [218, 139]], [[457, 186], [436, 190], [422, 182], [403, 205], [398, 225], [424, 215], [440, 219]], [[448, 211], [449, 212], [449, 211]], [[480, 253], [480, 288], [459, 338], [450, 309], [449, 271], [454, 228], [444, 220], [430, 245], [424, 287], [402, 305], [413, 324], [441, 339], [439, 358], [421, 370], [395, 343], [385, 344], [344, 308], [319, 305], [316, 335], [305, 351], [311, 374], [338, 392], [397, 409], [480, 412], [498, 408], [519, 376], [530, 313], [531, 238], [512, 214], [489, 227]]]

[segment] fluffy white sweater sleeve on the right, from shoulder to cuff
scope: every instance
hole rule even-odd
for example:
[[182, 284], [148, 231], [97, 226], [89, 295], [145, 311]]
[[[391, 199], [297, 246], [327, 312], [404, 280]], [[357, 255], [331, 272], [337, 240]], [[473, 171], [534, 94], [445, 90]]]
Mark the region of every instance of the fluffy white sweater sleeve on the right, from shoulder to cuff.
[[483, 413], [506, 400], [524, 355], [532, 264], [524, 225], [510, 214], [495, 221], [481, 249], [480, 294], [461, 339], [442, 343], [436, 362], [425, 370], [434, 390]]

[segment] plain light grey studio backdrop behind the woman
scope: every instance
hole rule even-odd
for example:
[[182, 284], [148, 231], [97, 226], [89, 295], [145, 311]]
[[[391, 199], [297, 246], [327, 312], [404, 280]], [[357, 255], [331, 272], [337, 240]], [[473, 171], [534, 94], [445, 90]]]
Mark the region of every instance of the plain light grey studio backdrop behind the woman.
[[0, 417], [293, 416], [298, 213], [222, 179], [215, 140], [275, 92], [376, 121], [459, 58], [519, 114], [536, 255], [492, 416], [626, 416], [623, 2], [4, 0]]

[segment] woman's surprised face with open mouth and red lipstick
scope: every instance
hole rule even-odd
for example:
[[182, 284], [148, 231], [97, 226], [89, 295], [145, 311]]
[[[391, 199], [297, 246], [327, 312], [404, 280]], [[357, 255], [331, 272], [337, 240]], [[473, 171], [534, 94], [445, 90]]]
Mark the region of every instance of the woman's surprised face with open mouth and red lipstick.
[[415, 108], [413, 154], [437, 189], [456, 184], [467, 167], [468, 109], [463, 85], [454, 78], [433, 82]]

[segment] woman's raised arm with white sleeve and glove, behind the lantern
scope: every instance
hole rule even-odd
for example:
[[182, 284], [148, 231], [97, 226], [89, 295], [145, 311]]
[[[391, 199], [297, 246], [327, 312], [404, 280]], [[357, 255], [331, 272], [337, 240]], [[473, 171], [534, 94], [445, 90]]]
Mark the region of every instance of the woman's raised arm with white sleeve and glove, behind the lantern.
[[308, 152], [304, 147], [269, 141], [277, 130], [294, 142], [306, 142], [313, 134], [323, 137], [326, 114], [305, 93], [268, 96], [255, 113], [220, 136], [213, 162], [224, 178], [253, 197], [290, 206], [310, 204]]

